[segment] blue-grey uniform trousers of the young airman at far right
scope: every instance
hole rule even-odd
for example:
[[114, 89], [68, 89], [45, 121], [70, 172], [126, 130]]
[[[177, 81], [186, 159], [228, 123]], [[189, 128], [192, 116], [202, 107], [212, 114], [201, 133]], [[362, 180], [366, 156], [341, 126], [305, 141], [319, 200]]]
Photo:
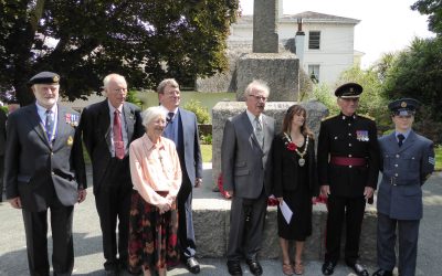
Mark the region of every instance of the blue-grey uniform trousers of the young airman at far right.
[[414, 276], [418, 256], [420, 220], [403, 221], [390, 219], [378, 212], [378, 265], [392, 270], [396, 265], [396, 230], [399, 235], [399, 275]]

